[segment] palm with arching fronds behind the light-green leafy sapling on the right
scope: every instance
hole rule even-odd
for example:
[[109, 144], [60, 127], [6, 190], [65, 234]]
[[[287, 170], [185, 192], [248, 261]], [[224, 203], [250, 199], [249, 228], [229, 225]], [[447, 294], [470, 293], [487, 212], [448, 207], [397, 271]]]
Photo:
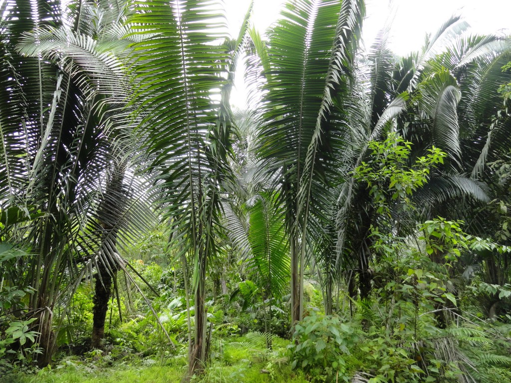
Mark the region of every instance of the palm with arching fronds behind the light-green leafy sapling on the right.
[[[358, 63], [356, 79], [358, 86], [352, 93], [350, 109], [350, 130], [345, 135], [346, 145], [339, 156], [339, 169], [344, 180], [338, 193], [337, 251], [335, 268], [358, 270], [359, 287], [362, 297], [367, 297], [371, 288], [368, 272], [371, 259], [369, 228], [376, 224], [378, 214], [373, 207], [368, 190], [353, 183], [353, 170], [364, 158], [369, 140], [381, 139], [391, 130], [397, 130], [414, 143], [412, 159], [425, 155], [432, 145], [450, 155], [444, 170], [436, 171], [428, 185], [416, 193], [416, 206], [439, 206], [459, 196], [470, 196], [485, 201], [487, 196], [483, 185], [463, 174], [459, 167], [461, 145], [456, 115], [460, 101], [459, 86], [440, 58], [447, 42], [467, 28], [459, 17], [453, 16], [432, 36], [429, 36], [422, 52], [409, 57], [396, 58], [387, 48], [388, 30], [384, 28], [366, 59]], [[460, 37], [458, 40], [462, 41]], [[488, 52], [502, 49], [502, 40], [497, 38], [475, 39], [471, 44], [455, 42], [453, 46], [464, 46], [458, 63], [478, 60]], [[450, 57], [450, 56], [449, 56]], [[457, 63], [453, 64], [454, 66]], [[408, 114], [404, 114], [408, 111]], [[388, 227], [398, 229], [401, 235], [413, 231], [416, 218], [402, 216], [397, 209], [392, 213]], [[405, 222], [411, 225], [405, 225]], [[353, 272], [347, 274], [353, 276]], [[355, 285], [350, 280], [352, 290]], [[354, 291], [350, 294], [353, 295]]]

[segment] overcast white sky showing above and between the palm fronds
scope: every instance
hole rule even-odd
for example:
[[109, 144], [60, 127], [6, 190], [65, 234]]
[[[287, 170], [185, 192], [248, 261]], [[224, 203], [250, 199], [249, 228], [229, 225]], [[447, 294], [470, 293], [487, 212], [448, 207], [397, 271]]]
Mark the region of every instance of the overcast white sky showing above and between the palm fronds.
[[[224, 0], [233, 36], [241, 25], [249, 0]], [[254, 0], [253, 23], [261, 32], [278, 18], [285, 0]], [[495, 33], [507, 29], [511, 33], [511, 0], [367, 0], [363, 38], [370, 46], [378, 31], [390, 23], [390, 49], [398, 55], [419, 50], [426, 33], [435, 32], [452, 14], [460, 14], [474, 34]], [[238, 89], [234, 104], [243, 106], [245, 92], [242, 76], [237, 76]]]

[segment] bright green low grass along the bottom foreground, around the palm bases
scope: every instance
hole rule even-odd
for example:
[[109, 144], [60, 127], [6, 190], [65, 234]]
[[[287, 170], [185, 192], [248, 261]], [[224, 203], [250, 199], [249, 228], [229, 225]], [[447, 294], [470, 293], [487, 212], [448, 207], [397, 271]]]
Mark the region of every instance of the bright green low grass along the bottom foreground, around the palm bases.
[[[234, 343], [233, 343], [234, 342]], [[305, 383], [303, 375], [291, 371], [285, 362], [287, 341], [277, 339], [273, 351], [251, 344], [245, 338], [224, 342], [213, 351], [213, 361], [196, 383]], [[60, 363], [60, 364], [59, 364]], [[147, 364], [152, 363], [151, 366]], [[98, 360], [57, 362], [53, 369], [36, 374], [14, 374], [0, 379], [5, 383], [178, 383], [187, 369], [184, 357], [165, 364], [152, 360], [131, 360], [110, 366]]]

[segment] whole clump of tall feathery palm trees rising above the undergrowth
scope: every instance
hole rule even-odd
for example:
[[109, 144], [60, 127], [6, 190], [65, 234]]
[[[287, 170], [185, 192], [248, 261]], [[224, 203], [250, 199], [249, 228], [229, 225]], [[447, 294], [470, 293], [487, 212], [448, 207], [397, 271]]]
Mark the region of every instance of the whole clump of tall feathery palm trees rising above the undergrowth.
[[[295, 323], [306, 270], [327, 314], [339, 286], [370, 296], [373, 226], [406, 236], [442, 215], [491, 236], [505, 220], [487, 207], [509, 204], [508, 180], [489, 163], [507, 163], [511, 148], [497, 92], [511, 82], [501, 70], [511, 45], [463, 34], [459, 17], [396, 57], [386, 29], [361, 49], [362, 0], [290, 2], [267, 40], [249, 28], [250, 9], [228, 36], [211, 1], [1, 9], [0, 235], [27, 252], [5, 278], [34, 289], [26, 315], [37, 318], [41, 365], [86, 278], [96, 278], [100, 344], [115, 274], [129, 271], [118, 249], [158, 219], [184, 271], [190, 374], [207, 358], [205, 280], [226, 246], [262, 281], [270, 313], [289, 283]], [[257, 107], [233, 113], [243, 57]], [[382, 216], [354, 171], [390, 132], [413, 143], [411, 160], [432, 146], [447, 158], [413, 195], [416, 209], [389, 201]], [[502, 254], [477, 261], [491, 283], [508, 282]]]

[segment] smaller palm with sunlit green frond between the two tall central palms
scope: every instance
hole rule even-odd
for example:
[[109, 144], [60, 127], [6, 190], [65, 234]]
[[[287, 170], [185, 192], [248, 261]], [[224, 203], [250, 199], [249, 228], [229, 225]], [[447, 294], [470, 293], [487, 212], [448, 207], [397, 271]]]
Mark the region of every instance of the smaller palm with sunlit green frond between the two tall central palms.
[[[261, 113], [233, 113], [231, 169], [234, 181], [226, 186], [226, 228], [233, 248], [241, 254], [250, 279], [257, 281], [263, 299], [265, 332], [271, 333], [272, 305], [289, 289], [289, 241], [285, 211], [273, 187], [269, 166], [255, 150], [261, 137]], [[271, 338], [267, 338], [271, 347]]]

